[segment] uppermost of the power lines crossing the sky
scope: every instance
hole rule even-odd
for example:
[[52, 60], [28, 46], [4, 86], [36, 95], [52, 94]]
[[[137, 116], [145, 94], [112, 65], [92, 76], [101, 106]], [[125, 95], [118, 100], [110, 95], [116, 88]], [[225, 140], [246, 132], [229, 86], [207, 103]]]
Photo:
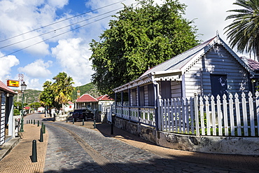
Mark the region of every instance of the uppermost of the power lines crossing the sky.
[[[126, 1], [126, 0], [123, 0], [123, 1]], [[30, 32], [35, 32], [35, 31], [38, 30], [38, 29], [43, 29], [43, 28], [45, 28], [45, 27], [49, 27], [49, 26], [51, 26], [51, 25], [55, 25], [55, 24], [57, 24], [57, 23], [59, 23], [59, 22], [64, 22], [64, 21], [66, 21], [66, 20], [70, 20], [70, 19], [72, 19], [72, 18], [76, 18], [76, 17], [78, 17], [78, 16], [80, 16], [80, 15], [85, 15], [85, 14], [87, 14], [87, 13], [91, 13], [91, 12], [93, 12], [93, 11], [98, 11], [98, 10], [100, 10], [100, 9], [102, 9], [102, 8], [106, 8], [106, 7], [108, 7], [108, 6], [113, 6], [114, 4], [118, 4], [118, 3], [121, 3], [121, 2], [123, 2], [123, 1], [118, 1], [118, 2], [116, 2], [116, 3], [109, 4], [109, 5], [107, 5], [107, 6], [103, 6], [103, 7], [94, 9], [94, 10], [92, 10], [92, 11], [87, 11], [87, 12], [81, 13], [81, 14], [79, 14], [79, 15], [74, 15], [74, 16], [71, 17], [71, 18], [66, 18], [66, 19], [64, 19], [64, 20], [60, 20], [60, 21], [57, 21], [57, 22], [53, 22], [52, 24], [45, 25], [45, 26], [43, 26], [43, 27], [38, 27], [38, 28], [33, 29], [33, 30], [29, 31], [29, 32], [25, 32], [25, 33], [22, 33], [22, 34], [18, 34], [18, 35], [16, 35], [16, 36], [12, 36], [12, 37], [10, 37], [10, 38], [8, 38], [8, 39], [4, 39], [4, 40], [0, 41], [0, 43], [3, 42], [3, 41], [8, 41], [8, 40], [10, 40], [10, 39], [14, 39], [14, 38], [16, 38], [16, 37], [18, 37], [18, 36], [22, 36], [22, 35], [28, 34], [28, 33], [30, 33]]]

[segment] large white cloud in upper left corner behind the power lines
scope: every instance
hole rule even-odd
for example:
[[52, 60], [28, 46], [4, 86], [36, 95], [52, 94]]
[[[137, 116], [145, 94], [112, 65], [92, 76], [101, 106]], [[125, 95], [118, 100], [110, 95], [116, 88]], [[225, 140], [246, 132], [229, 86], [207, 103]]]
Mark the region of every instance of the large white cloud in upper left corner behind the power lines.
[[[45, 32], [54, 31], [55, 29], [64, 25], [68, 25], [69, 22], [62, 22], [62, 25], [57, 24], [50, 27], [41, 27], [45, 25], [50, 25], [57, 20], [61, 20], [60, 18], [57, 18], [55, 12], [57, 8], [62, 8], [66, 4], [68, 4], [68, 0], [0, 1], [0, 40], [8, 39], [1, 42], [0, 47], [8, 46], [5, 48], [5, 50], [9, 51], [25, 48], [24, 51], [26, 53], [43, 56], [48, 55], [49, 46], [48, 43], [46, 43], [45, 39], [50, 39], [57, 33], [51, 32], [50, 34], [42, 34], [44, 34]], [[9, 39], [13, 36], [17, 37]]]

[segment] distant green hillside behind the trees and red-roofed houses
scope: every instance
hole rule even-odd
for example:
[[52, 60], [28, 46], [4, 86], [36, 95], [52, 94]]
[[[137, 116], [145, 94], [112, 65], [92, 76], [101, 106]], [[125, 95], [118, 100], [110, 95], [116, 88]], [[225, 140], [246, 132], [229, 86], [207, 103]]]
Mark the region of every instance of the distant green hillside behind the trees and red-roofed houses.
[[[75, 90], [72, 92], [72, 102], [77, 99], [77, 91], [80, 90], [80, 95], [83, 94], [90, 94], [93, 97], [97, 98], [100, 96], [99, 92], [97, 91], [96, 85], [93, 83], [87, 83], [82, 86], [77, 86]], [[15, 95], [14, 102], [22, 102], [22, 95], [20, 94], [20, 90], [14, 90], [19, 92], [18, 95]], [[38, 96], [41, 94], [41, 90], [25, 90], [24, 97], [25, 97], [25, 103], [32, 104], [34, 102], [39, 102]]]

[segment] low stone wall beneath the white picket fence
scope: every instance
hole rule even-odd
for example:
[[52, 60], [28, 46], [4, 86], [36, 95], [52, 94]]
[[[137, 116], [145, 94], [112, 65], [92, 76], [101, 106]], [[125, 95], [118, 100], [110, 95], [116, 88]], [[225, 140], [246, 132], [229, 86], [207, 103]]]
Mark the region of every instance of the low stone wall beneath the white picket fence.
[[259, 155], [259, 137], [196, 137], [160, 132], [153, 127], [116, 118], [115, 126], [159, 146], [202, 153]]

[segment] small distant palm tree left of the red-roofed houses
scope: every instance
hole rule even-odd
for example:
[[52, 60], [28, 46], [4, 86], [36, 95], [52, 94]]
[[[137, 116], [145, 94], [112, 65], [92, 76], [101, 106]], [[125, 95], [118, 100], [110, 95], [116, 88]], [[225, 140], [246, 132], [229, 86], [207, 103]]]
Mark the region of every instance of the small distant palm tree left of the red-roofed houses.
[[56, 93], [55, 102], [62, 104], [62, 114], [64, 114], [64, 104], [71, 101], [71, 95], [74, 90], [73, 78], [65, 72], [60, 72], [53, 78], [55, 83], [52, 85], [53, 91]]

